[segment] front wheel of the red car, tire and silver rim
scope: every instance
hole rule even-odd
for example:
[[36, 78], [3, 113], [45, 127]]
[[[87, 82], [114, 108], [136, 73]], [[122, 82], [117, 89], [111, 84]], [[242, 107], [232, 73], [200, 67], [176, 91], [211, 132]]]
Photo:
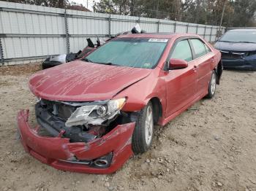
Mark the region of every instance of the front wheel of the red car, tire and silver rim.
[[135, 154], [146, 152], [151, 146], [154, 136], [154, 112], [149, 102], [138, 115], [132, 135], [132, 150]]

